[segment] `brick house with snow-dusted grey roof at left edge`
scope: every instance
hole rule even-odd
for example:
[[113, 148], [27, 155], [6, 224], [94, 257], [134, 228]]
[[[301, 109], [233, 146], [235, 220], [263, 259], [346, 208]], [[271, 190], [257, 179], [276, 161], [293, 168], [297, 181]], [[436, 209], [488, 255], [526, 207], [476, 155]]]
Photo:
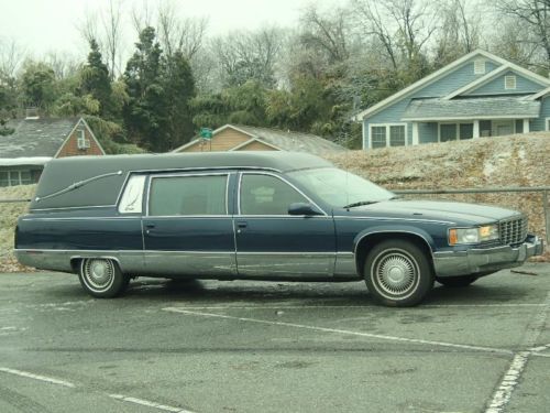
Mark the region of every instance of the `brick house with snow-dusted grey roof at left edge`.
[[82, 118], [9, 121], [0, 134], [0, 186], [36, 183], [54, 157], [105, 154]]

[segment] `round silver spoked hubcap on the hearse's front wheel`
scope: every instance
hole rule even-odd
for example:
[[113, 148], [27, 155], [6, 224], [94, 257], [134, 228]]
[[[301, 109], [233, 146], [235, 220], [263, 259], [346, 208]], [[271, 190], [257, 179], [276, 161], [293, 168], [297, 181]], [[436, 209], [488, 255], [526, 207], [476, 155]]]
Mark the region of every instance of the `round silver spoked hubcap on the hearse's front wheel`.
[[413, 258], [403, 252], [386, 252], [376, 262], [375, 276], [385, 293], [403, 295], [415, 287], [418, 267]]

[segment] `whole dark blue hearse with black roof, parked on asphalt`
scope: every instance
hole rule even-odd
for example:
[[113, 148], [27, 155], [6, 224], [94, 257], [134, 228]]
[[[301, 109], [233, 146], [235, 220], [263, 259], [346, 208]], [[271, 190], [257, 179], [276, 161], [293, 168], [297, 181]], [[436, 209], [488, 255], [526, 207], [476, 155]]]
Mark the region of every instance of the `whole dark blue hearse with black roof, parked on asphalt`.
[[465, 286], [542, 249], [518, 211], [399, 199], [289, 152], [54, 160], [15, 230], [22, 264], [78, 273], [96, 297], [140, 275], [364, 279], [409, 306], [435, 281]]

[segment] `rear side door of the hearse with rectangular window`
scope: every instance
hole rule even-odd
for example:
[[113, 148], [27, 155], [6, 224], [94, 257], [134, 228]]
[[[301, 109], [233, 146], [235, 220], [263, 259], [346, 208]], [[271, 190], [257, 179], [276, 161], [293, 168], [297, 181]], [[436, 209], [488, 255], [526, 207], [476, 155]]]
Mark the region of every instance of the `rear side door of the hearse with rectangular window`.
[[188, 173], [150, 178], [142, 221], [147, 271], [185, 276], [235, 275], [230, 177], [230, 173]]

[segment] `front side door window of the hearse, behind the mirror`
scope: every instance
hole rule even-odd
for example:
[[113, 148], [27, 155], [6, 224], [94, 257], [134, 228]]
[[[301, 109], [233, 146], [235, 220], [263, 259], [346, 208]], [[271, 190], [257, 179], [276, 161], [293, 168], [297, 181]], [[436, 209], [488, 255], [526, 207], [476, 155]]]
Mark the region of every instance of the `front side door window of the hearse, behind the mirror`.
[[288, 215], [293, 203], [308, 200], [275, 176], [244, 174], [241, 181], [241, 214]]

